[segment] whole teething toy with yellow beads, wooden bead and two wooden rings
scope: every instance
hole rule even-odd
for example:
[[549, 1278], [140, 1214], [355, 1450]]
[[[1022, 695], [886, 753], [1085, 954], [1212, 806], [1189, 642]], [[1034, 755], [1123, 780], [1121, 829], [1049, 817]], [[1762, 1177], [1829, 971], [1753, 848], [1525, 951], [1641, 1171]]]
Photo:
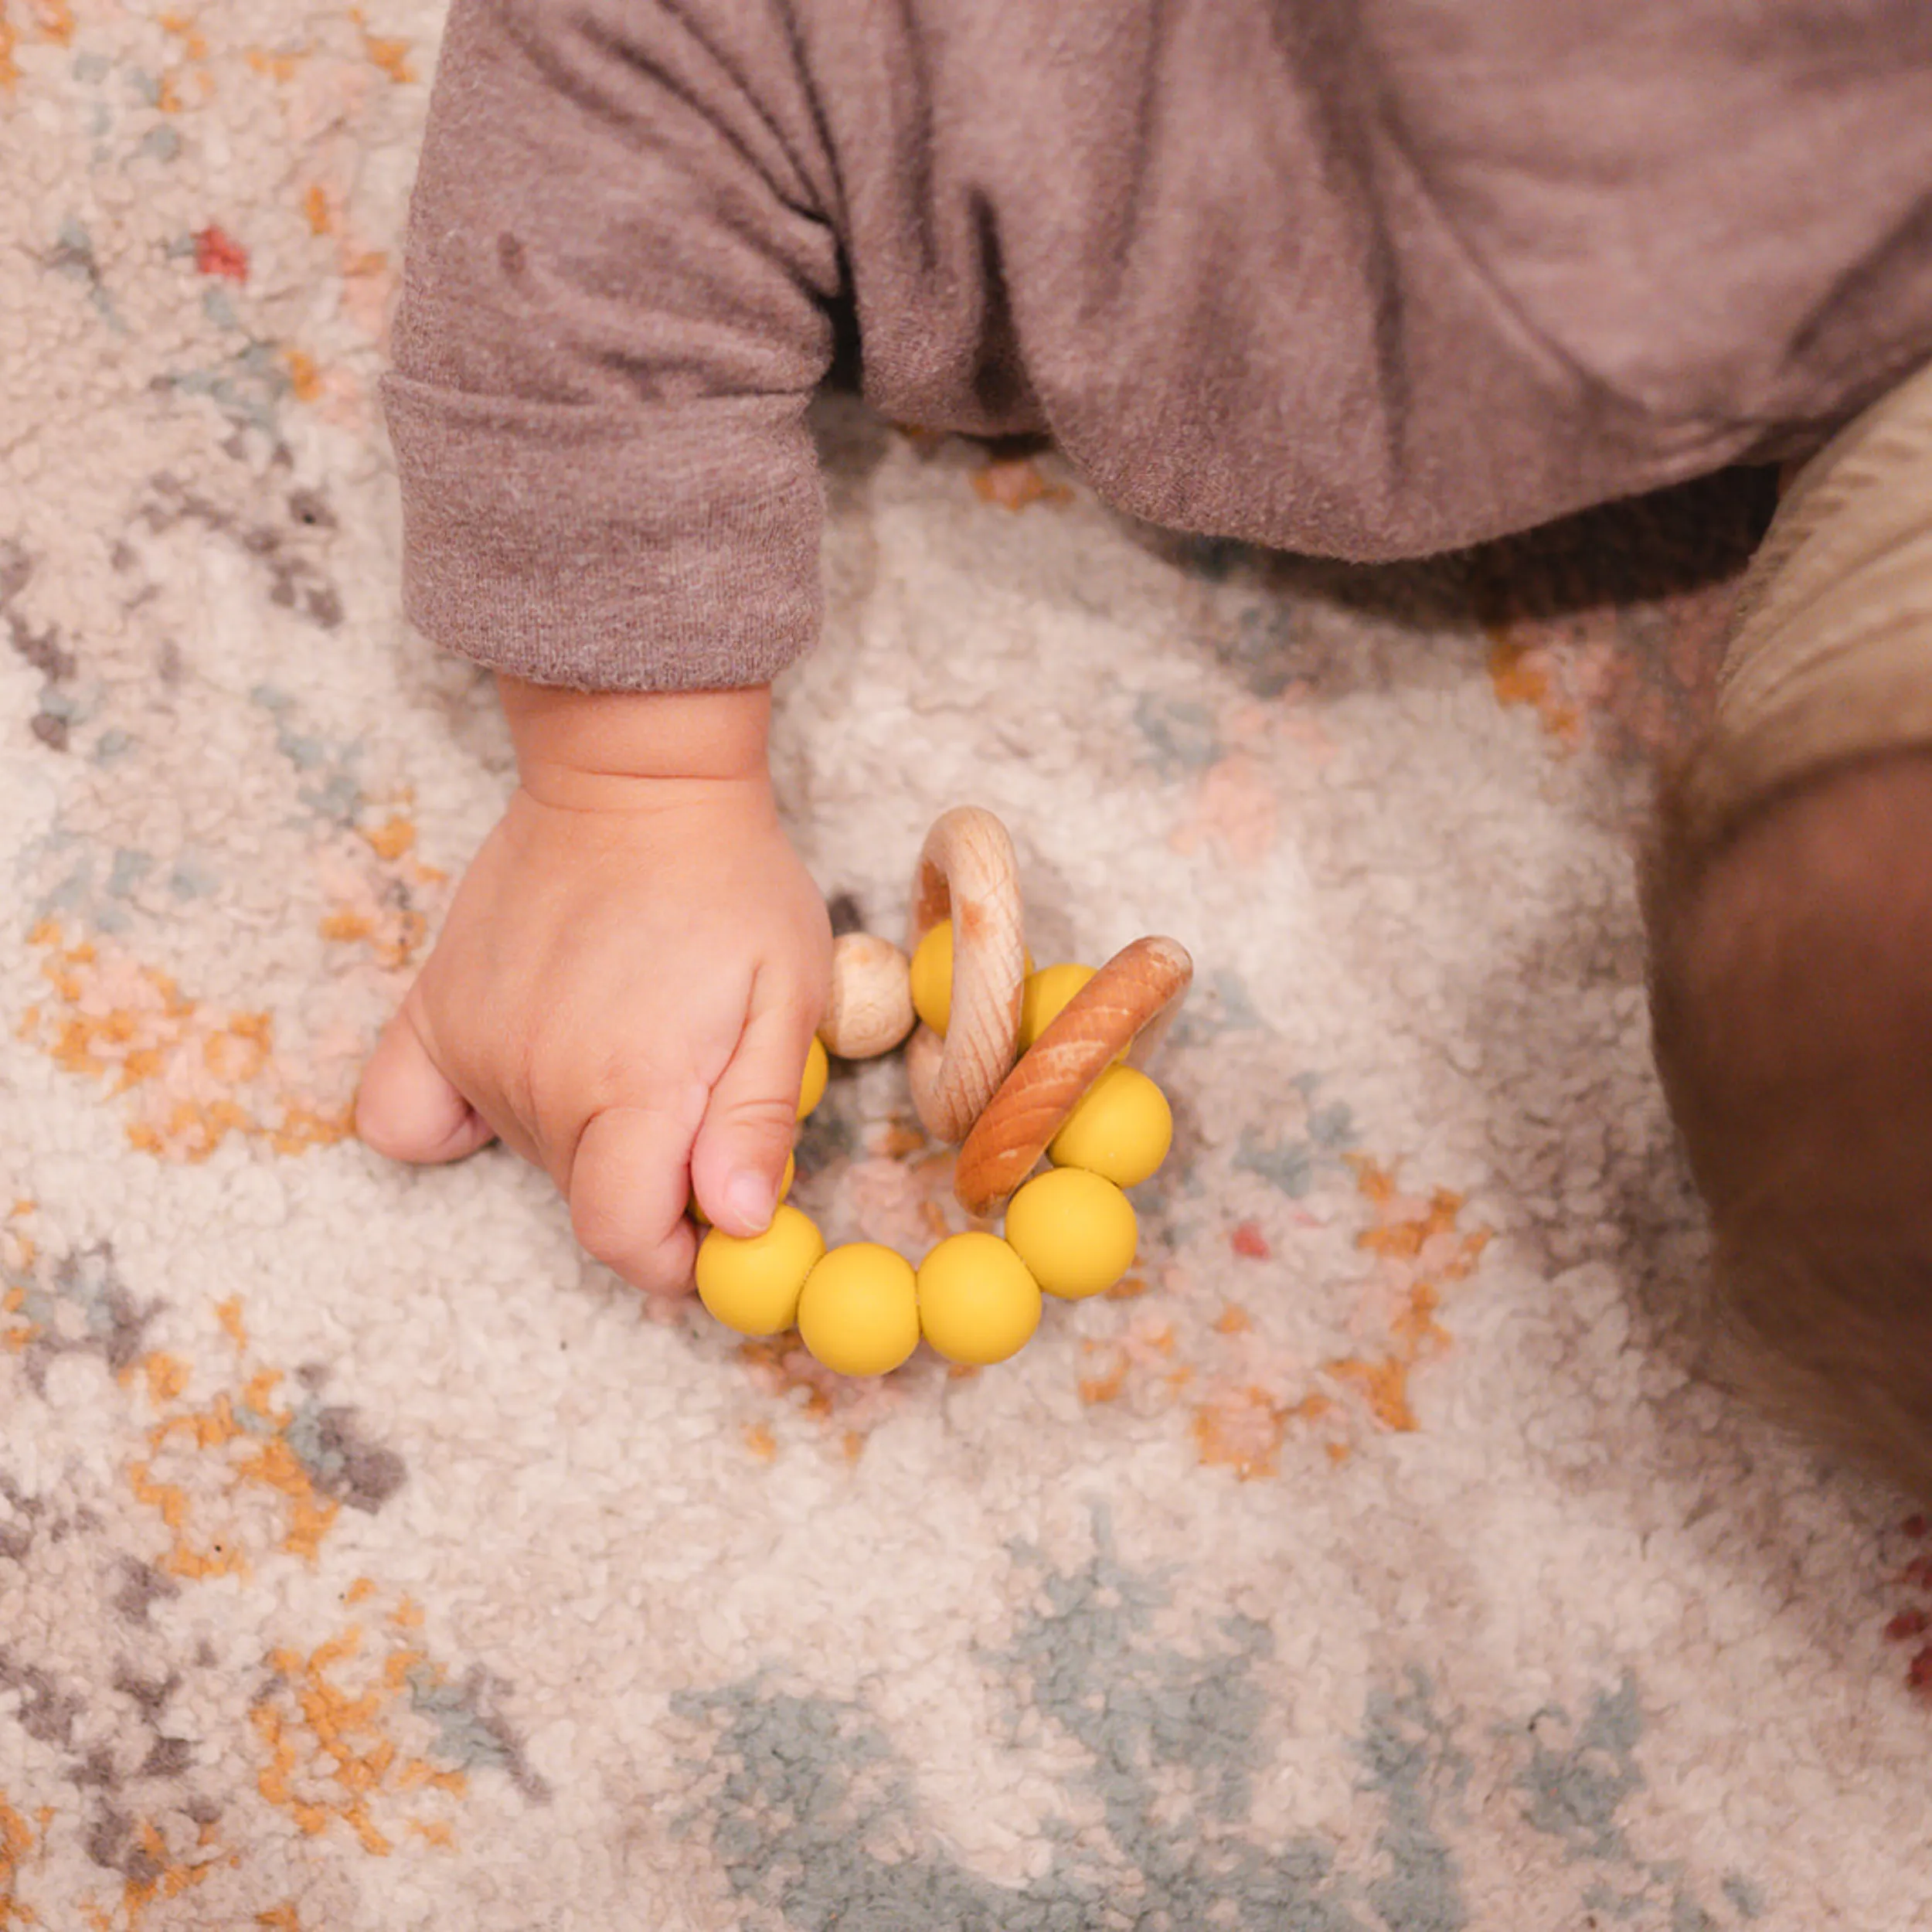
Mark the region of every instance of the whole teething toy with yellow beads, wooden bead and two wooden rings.
[[[844, 1376], [883, 1376], [920, 1341], [951, 1362], [1003, 1362], [1032, 1339], [1041, 1296], [1111, 1289], [1140, 1238], [1126, 1190], [1173, 1138], [1140, 1063], [1194, 976], [1184, 947], [1136, 939], [1097, 972], [1034, 972], [1012, 840], [972, 808], [945, 813], [920, 850], [910, 933], [910, 958], [867, 933], [835, 945], [798, 1117], [825, 1092], [827, 1047], [889, 1053], [918, 1014], [906, 1066], [920, 1119], [935, 1140], [964, 1142], [954, 1194], [978, 1219], [1005, 1202], [1001, 1235], [949, 1235], [914, 1267], [879, 1242], [827, 1248], [781, 1202], [761, 1235], [711, 1229], [697, 1248], [697, 1294], [719, 1321], [740, 1335], [796, 1327]], [[1036, 1175], [1041, 1155], [1051, 1165]]]

